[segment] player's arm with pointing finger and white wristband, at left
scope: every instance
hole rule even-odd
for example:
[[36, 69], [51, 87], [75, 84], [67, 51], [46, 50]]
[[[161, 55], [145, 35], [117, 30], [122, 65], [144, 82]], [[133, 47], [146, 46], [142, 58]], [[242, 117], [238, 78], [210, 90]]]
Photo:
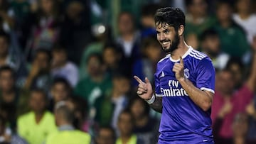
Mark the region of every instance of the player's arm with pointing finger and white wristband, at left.
[[145, 82], [143, 82], [137, 76], [134, 76], [134, 79], [136, 79], [137, 82], [139, 82], [139, 87], [138, 87], [138, 90], [137, 90], [137, 94], [142, 99], [147, 101], [149, 103], [149, 106], [151, 106], [152, 109], [161, 113], [162, 109], [163, 109], [162, 98], [159, 97], [159, 96], [155, 96], [153, 94], [153, 90], [152, 90], [151, 84], [149, 82], [149, 79], [145, 78]]

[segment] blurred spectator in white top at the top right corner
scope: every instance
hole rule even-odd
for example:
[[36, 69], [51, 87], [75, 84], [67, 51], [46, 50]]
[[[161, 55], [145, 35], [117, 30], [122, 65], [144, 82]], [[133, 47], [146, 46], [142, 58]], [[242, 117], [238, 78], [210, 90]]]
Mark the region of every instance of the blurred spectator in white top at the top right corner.
[[248, 43], [252, 43], [252, 38], [256, 35], [256, 15], [252, 13], [251, 0], [237, 0], [235, 2], [236, 13], [233, 14], [233, 20], [238, 23], [246, 32]]

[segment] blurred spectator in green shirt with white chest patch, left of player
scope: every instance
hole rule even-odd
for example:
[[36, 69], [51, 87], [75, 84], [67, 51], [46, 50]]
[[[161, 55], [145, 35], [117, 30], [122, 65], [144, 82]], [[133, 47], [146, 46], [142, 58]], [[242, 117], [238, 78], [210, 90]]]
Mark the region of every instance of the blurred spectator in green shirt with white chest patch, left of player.
[[[110, 77], [106, 75], [102, 55], [92, 53], [87, 59], [88, 76], [81, 79], [75, 87], [75, 94], [88, 101], [90, 118], [100, 121], [100, 104], [97, 99], [104, 99], [112, 89]], [[103, 121], [103, 120], [102, 120]]]

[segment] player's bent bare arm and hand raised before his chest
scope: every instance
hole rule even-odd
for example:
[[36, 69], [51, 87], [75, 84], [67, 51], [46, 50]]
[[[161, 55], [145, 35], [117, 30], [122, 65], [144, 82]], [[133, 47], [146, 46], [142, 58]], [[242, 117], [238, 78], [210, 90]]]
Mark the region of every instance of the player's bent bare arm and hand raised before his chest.
[[188, 93], [188, 96], [192, 101], [203, 111], [208, 111], [213, 101], [213, 93], [208, 91], [202, 91], [193, 85], [193, 83], [186, 79], [183, 75], [184, 63], [180, 57], [181, 63], [175, 63], [173, 71], [175, 72], [175, 77], [180, 82], [181, 86]]

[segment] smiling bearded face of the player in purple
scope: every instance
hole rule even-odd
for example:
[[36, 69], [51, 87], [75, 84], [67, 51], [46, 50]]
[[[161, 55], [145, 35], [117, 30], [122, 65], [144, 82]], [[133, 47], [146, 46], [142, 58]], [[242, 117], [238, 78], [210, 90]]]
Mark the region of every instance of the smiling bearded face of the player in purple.
[[169, 26], [167, 23], [156, 23], [156, 33], [157, 40], [164, 52], [173, 52], [178, 48], [180, 38], [174, 26]]

